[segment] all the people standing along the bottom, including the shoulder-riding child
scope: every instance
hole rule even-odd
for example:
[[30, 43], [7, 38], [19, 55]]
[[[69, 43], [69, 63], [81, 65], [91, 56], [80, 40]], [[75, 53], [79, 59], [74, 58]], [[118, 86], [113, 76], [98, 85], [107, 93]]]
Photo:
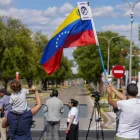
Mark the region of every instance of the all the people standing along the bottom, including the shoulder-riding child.
[[[11, 93], [4, 88], [0, 90], [1, 140], [31, 140], [32, 119], [42, 106], [38, 90], [35, 87], [24, 89], [18, 80], [13, 80], [10, 87]], [[36, 99], [36, 105], [32, 108], [28, 107], [26, 100], [26, 94], [30, 91], [34, 92]], [[106, 85], [106, 91], [108, 93], [108, 103], [113, 106], [117, 116], [115, 140], [139, 140], [140, 99], [136, 98], [138, 94], [137, 85], [134, 83], [128, 84], [125, 94], [122, 94], [111, 84]], [[114, 100], [113, 94], [119, 100]], [[78, 140], [78, 101], [70, 99], [67, 106], [69, 107], [69, 113], [66, 140]], [[53, 90], [44, 107], [48, 140], [60, 140], [59, 128], [63, 112], [64, 105], [58, 98], [58, 91]]]

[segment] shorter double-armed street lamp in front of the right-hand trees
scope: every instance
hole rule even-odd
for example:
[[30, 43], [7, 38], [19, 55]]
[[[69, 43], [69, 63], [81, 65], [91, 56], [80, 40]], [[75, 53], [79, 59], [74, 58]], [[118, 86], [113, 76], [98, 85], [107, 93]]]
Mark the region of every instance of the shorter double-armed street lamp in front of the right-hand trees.
[[109, 59], [110, 59], [110, 43], [111, 43], [111, 40], [114, 39], [114, 38], [124, 37], [124, 36], [113, 36], [110, 39], [108, 39], [107, 37], [104, 37], [104, 36], [98, 36], [98, 37], [99, 38], [104, 38], [108, 42], [107, 73], [109, 74]]

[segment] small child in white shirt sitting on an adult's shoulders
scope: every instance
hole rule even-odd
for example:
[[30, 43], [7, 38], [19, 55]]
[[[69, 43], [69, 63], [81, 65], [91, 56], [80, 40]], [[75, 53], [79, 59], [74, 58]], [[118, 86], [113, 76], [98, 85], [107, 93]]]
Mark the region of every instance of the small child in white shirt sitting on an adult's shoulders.
[[[16, 114], [23, 114], [30, 108], [27, 106], [26, 94], [29, 94], [29, 89], [22, 89], [21, 84], [17, 80], [10, 83], [12, 94], [9, 103], [11, 111]], [[31, 90], [31, 89], [30, 89]]]

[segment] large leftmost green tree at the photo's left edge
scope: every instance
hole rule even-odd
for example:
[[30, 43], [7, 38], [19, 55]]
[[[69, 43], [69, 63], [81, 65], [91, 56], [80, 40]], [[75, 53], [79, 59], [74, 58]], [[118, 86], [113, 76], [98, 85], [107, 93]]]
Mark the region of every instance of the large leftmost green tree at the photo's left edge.
[[32, 67], [32, 32], [17, 19], [0, 17], [0, 69], [5, 87], [16, 71], [24, 77]]

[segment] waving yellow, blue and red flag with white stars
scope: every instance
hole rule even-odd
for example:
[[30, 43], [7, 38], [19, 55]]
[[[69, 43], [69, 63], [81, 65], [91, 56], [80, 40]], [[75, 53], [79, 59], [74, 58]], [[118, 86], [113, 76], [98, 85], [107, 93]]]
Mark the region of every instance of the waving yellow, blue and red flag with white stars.
[[76, 7], [49, 40], [40, 64], [48, 74], [57, 71], [64, 48], [96, 44], [91, 20], [82, 20]]

